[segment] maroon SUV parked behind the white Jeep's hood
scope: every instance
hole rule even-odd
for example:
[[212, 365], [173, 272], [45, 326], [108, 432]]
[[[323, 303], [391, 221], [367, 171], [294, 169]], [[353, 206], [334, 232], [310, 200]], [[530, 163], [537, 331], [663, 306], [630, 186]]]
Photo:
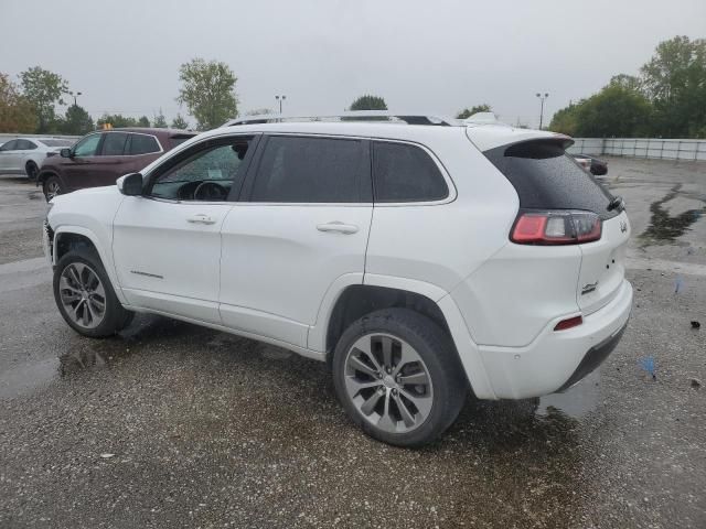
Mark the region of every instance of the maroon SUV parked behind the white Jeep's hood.
[[36, 175], [46, 202], [83, 187], [113, 185], [137, 173], [164, 152], [196, 136], [174, 129], [113, 129], [84, 136], [61, 156], [47, 158]]

